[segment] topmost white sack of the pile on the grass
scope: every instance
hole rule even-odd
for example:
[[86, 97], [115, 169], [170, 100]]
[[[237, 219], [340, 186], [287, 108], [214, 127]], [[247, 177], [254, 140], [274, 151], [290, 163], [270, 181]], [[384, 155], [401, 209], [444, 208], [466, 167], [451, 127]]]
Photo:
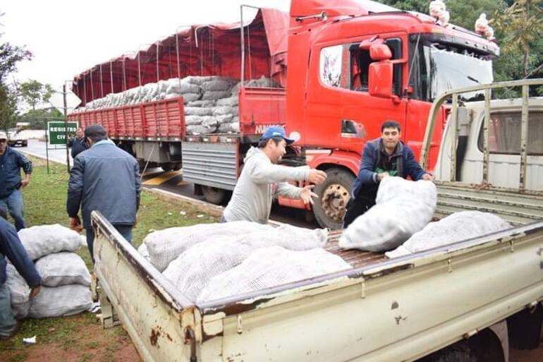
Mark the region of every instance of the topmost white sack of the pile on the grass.
[[59, 224], [20, 229], [18, 234], [31, 260], [61, 251], [77, 251], [81, 245], [77, 232]]

